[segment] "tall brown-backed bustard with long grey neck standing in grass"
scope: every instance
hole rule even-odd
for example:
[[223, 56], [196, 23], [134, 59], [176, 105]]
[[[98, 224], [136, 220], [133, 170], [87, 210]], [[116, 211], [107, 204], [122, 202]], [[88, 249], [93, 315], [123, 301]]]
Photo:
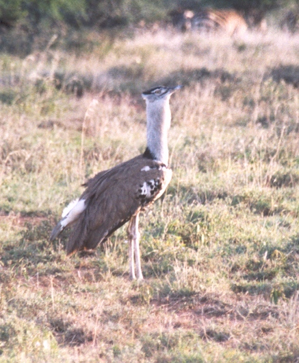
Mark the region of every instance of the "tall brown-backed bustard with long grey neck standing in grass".
[[146, 102], [146, 149], [143, 154], [104, 170], [87, 180], [83, 194], [70, 202], [53, 229], [55, 239], [73, 224], [66, 253], [96, 248], [129, 222], [129, 278], [143, 279], [140, 263], [139, 215], [157, 200], [170, 183], [168, 130], [171, 123], [170, 96], [181, 86], [157, 86], [142, 93]]

